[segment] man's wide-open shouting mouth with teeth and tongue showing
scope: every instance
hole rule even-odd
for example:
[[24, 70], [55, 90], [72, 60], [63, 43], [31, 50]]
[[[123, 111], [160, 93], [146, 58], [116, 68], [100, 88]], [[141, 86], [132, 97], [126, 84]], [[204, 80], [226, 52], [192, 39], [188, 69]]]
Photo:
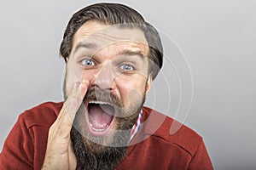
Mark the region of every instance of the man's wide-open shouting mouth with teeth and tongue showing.
[[88, 101], [85, 104], [85, 118], [89, 132], [94, 136], [104, 136], [113, 127], [115, 108], [102, 101]]

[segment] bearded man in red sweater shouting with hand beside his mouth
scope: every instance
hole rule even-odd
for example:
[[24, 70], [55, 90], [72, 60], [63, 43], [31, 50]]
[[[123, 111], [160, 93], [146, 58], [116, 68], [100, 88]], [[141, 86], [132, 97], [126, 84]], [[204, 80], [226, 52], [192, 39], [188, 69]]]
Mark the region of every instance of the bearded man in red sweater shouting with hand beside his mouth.
[[64, 103], [19, 116], [1, 169], [212, 169], [201, 137], [143, 107], [162, 67], [160, 36], [122, 4], [82, 8], [60, 48], [67, 62]]

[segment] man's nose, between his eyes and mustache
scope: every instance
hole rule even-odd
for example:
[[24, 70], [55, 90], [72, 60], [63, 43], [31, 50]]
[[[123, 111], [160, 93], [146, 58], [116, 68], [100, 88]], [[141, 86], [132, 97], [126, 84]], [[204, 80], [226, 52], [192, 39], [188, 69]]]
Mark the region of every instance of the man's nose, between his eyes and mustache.
[[98, 71], [96, 78], [95, 78], [95, 85], [98, 88], [102, 89], [108, 89], [108, 90], [113, 90], [115, 74], [113, 71], [113, 66], [111, 62], [108, 62], [106, 65], [102, 67], [100, 71]]

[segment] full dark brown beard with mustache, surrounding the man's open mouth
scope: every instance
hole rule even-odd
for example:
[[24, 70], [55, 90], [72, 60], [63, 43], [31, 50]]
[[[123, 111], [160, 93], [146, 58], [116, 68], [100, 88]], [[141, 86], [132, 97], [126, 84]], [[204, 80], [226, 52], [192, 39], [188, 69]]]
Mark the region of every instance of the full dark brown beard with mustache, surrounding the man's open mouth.
[[[84, 112], [88, 111], [88, 108], [84, 103], [79, 107], [70, 132], [79, 169], [113, 169], [123, 160], [131, 138], [131, 128], [143, 108], [145, 94], [146, 87], [143, 97], [132, 99], [125, 108], [122, 99], [108, 91], [97, 88], [86, 93], [84, 101], [99, 100], [115, 105], [115, 119], [114, 129], [104, 136], [95, 136], [85, 128]], [[65, 91], [64, 95], [66, 98]]]

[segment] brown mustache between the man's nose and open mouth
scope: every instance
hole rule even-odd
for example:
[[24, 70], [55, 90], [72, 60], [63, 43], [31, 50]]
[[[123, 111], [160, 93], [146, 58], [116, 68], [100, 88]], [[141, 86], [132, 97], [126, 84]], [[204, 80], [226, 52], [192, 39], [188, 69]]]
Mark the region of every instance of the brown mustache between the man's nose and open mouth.
[[110, 105], [115, 105], [118, 107], [124, 107], [123, 100], [119, 98], [116, 94], [111, 93], [107, 90], [102, 90], [99, 88], [90, 89], [84, 96], [84, 101], [102, 101]]

